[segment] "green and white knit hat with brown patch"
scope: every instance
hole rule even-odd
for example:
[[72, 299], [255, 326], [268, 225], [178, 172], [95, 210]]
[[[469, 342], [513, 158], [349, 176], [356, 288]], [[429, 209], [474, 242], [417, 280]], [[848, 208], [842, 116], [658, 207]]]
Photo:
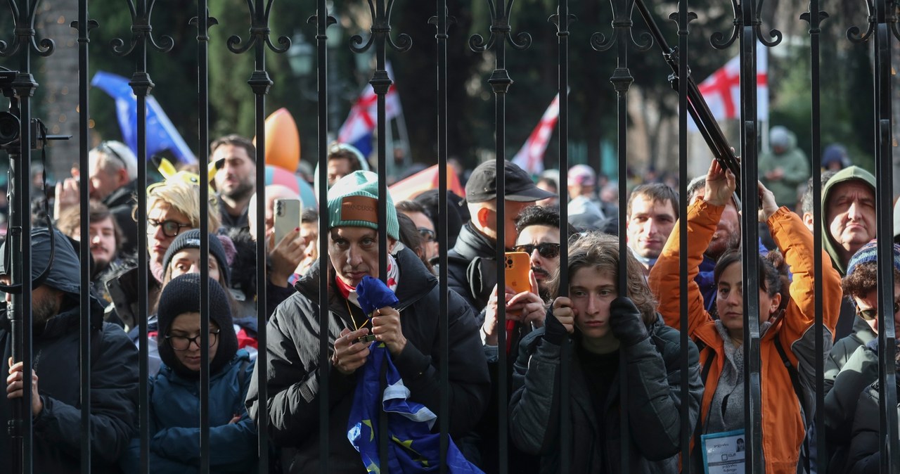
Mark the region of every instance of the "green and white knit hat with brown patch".
[[[391, 194], [387, 195], [388, 237], [400, 240], [400, 224]], [[355, 171], [329, 189], [329, 228], [378, 229], [378, 174]]]

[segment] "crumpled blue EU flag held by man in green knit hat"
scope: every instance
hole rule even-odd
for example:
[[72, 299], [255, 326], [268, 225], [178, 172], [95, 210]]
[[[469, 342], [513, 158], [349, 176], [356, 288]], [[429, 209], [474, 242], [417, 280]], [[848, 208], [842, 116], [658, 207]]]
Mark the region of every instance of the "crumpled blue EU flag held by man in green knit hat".
[[[365, 310], [397, 304], [397, 297], [381, 280], [365, 277], [356, 286], [360, 306]], [[387, 387], [379, 383], [381, 367], [386, 365]], [[390, 472], [431, 472], [440, 469], [440, 434], [431, 433], [437, 416], [424, 405], [411, 401], [410, 389], [403, 385], [400, 372], [391, 362], [384, 343], [370, 347], [369, 358], [356, 383], [353, 407], [347, 423], [347, 439], [363, 458], [368, 472], [381, 472], [383, 462]], [[379, 459], [378, 416], [387, 412], [388, 459]], [[447, 448], [447, 470], [452, 473], [482, 473], [466, 461], [453, 440]]]

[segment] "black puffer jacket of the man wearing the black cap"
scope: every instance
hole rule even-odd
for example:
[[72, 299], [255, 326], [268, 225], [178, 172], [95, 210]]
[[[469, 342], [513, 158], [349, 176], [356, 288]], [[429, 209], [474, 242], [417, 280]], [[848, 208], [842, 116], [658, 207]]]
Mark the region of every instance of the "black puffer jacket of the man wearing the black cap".
[[475, 230], [472, 222], [466, 222], [447, 253], [447, 288], [462, 296], [476, 313], [488, 305], [497, 284], [495, 245]]

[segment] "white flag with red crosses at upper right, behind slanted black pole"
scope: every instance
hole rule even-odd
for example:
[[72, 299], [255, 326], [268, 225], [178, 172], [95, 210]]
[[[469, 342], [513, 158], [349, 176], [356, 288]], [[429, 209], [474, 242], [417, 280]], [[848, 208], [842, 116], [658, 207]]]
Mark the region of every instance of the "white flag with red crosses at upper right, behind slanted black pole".
[[[739, 119], [741, 116], [741, 57], [732, 58], [698, 85], [716, 120]], [[769, 62], [766, 48], [756, 48], [756, 114], [760, 121], [769, 121]], [[689, 121], [691, 130], [697, 130]]]

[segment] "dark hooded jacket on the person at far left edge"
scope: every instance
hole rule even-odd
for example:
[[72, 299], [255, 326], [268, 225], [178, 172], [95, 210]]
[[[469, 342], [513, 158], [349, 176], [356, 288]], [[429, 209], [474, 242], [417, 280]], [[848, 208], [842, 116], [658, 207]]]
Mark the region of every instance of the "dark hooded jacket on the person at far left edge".
[[[79, 358], [79, 264], [75, 250], [54, 230], [56, 251], [45, 285], [65, 293], [63, 307], [32, 334], [33, 368], [43, 410], [33, 418], [34, 472], [80, 471], [81, 398]], [[32, 275], [49, 260], [46, 228], [32, 234]], [[6, 273], [5, 249], [0, 249], [0, 273]], [[120, 472], [117, 462], [128, 448], [138, 424], [138, 350], [121, 327], [103, 323], [103, 306], [91, 300], [91, 462], [92, 472]], [[0, 311], [0, 350], [3, 367], [11, 355], [13, 335], [5, 309]], [[16, 401], [18, 403], [18, 401]], [[12, 416], [12, 403], [0, 397], [0, 424]], [[0, 430], [0, 460], [12, 459], [12, 440]]]

